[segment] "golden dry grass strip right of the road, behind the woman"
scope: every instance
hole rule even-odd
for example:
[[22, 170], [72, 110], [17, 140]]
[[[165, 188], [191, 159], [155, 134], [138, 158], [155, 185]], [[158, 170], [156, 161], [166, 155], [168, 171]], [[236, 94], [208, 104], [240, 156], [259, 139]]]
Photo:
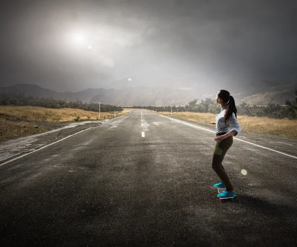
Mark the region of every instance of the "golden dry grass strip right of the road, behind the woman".
[[[171, 115], [169, 112], [158, 113], [166, 116]], [[208, 124], [208, 122], [215, 122], [215, 117], [217, 114], [199, 112], [173, 112], [172, 116], [181, 120], [214, 126]], [[238, 116], [237, 120], [240, 123], [243, 132], [253, 134], [272, 134], [283, 137], [297, 138], [297, 120], [250, 116]]]

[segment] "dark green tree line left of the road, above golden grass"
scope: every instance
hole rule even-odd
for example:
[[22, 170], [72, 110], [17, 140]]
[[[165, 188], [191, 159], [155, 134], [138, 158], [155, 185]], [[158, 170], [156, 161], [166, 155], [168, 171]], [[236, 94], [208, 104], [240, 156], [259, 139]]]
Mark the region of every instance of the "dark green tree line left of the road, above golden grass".
[[[86, 111], [99, 112], [98, 103], [83, 103], [81, 100], [76, 99], [75, 101], [66, 99], [53, 99], [51, 98], [38, 98], [34, 96], [29, 96], [24, 93], [13, 93], [13, 92], [3, 92], [0, 93], [0, 105], [28, 105], [28, 106], [38, 106], [46, 108], [75, 108], [82, 109]], [[123, 108], [120, 106], [110, 105], [110, 104], [100, 104], [101, 112], [108, 111], [122, 111]]]

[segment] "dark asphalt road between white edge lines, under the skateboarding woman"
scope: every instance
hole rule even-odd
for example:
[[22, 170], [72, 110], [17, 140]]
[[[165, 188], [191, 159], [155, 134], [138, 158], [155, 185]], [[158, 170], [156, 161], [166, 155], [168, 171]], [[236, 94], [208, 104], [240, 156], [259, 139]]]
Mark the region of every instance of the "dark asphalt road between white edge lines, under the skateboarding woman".
[[0, 166], [0, 246], [297, 246], [297, 159], [234, 140], [220, 202], [214, 138], [135, 110]]

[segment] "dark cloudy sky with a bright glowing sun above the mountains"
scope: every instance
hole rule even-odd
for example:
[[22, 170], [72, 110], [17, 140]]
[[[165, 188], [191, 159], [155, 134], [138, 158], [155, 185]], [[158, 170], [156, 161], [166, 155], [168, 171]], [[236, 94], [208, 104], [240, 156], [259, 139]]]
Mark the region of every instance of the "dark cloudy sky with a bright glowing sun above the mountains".
[[10, 0], [0, 86], [296, 83], [296, 12], [296, 0]]

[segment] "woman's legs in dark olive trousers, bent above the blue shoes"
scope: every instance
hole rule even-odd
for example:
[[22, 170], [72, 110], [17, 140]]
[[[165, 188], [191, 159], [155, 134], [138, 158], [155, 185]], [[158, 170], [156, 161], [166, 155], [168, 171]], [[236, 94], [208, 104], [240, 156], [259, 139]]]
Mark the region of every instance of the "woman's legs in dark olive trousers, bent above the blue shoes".
[[224, 166], [222, 165], [222, 161], [224, 159], [224, 156], [227, 152], [227, 150], [232, 146], [233, 144], [233, 137], [227, 137], [226, 139], [222, 140], [220, 143], [217, 142], [212, 156], [212, 169], [216, 172], [218, 177], [221, 179], [222, 183], [226, 186], [226, 190], [233, 191], [234, 188], [229, 180], [229, 177], [224, 169]]

